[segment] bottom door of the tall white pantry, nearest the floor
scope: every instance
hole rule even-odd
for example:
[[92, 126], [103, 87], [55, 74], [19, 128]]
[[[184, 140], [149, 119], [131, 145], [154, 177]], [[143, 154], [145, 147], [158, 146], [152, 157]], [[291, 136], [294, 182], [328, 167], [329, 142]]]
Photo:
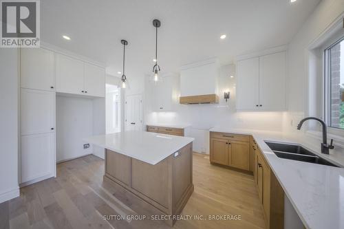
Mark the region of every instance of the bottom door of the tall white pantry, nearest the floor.
[[21, 136], [21, 183], [55, 175], [55, 133]]

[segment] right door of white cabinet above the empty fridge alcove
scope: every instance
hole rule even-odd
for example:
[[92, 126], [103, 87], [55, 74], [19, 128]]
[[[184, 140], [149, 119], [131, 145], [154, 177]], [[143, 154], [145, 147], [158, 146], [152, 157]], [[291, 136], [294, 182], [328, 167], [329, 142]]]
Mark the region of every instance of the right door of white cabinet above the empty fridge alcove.
[[85, 63], [85, 93], [89, 96], [105, 96], [105, 69]]

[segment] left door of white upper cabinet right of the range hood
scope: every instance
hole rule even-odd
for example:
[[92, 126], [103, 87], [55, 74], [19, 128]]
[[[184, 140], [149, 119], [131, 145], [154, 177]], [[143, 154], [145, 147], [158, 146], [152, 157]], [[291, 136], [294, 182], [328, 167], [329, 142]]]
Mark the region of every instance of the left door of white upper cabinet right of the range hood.
[[259, 58], [237, 62], [237, 109], [259, 109]]

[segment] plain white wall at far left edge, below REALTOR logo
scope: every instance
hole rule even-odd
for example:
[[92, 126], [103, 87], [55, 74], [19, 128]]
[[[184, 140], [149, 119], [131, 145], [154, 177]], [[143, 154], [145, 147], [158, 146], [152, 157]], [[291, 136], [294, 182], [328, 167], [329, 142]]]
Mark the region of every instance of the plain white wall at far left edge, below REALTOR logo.
[[0, 203], [19, 196], [18, 120], [19, 120], [18, 50], [0, 51]]

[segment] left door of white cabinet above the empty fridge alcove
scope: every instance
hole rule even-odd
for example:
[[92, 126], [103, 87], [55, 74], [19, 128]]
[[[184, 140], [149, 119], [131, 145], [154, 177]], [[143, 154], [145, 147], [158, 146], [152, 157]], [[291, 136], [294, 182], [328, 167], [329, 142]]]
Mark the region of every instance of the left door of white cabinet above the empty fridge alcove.
[[56, 91], [85, 94], [83, 61], [56, 54]]

